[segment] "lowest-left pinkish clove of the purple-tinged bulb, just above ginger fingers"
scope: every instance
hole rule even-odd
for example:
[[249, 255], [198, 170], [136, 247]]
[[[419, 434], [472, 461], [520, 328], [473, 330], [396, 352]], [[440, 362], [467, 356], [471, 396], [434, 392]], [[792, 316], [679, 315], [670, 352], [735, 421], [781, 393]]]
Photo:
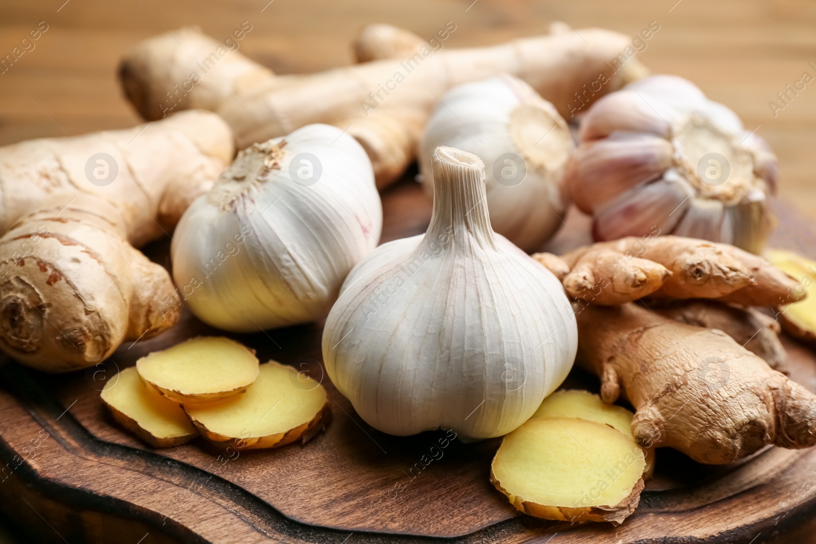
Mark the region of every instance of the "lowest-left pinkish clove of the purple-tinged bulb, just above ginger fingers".
[[674, 170], [663, 178], [630, 189], [596, 210], [592, 235], [597, 241], [667, 234], [690, 206], [694, 190]]

